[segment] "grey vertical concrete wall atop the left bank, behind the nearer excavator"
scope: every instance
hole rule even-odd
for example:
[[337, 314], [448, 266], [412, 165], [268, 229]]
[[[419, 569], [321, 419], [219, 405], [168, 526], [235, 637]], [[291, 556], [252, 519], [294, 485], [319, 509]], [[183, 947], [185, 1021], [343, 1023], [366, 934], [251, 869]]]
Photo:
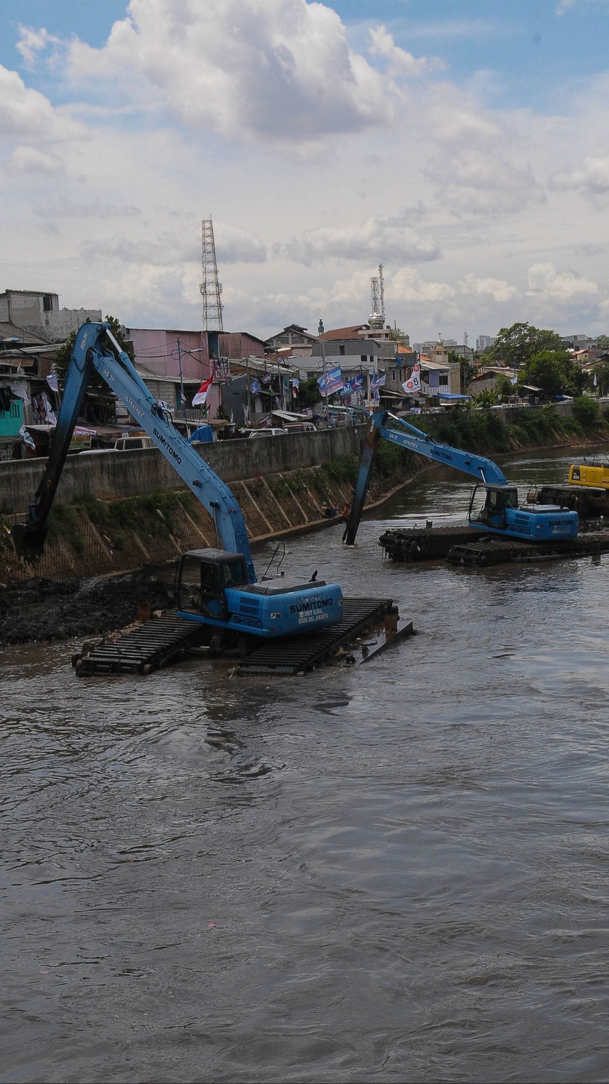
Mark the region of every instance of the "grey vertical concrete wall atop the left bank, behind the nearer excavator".
[[[232, 482], [318, 466], [348, 452], [359, 453], [364, 431], [364, 426], [345, 427], [321, 433], [290, 433], [281, 439], [221, 440], [197, 447], [216, 474]], [[41, 459], [0, 463], [0, 511], [25, 512], [46, 465], [47, 460]], [[63, 504], [78, 504], [79, 498], [87, 493], [112, 501], [183, 488], [179, 474], [155, 448], [139, 452], [100, 452], [68, 456], [56, 500]]]

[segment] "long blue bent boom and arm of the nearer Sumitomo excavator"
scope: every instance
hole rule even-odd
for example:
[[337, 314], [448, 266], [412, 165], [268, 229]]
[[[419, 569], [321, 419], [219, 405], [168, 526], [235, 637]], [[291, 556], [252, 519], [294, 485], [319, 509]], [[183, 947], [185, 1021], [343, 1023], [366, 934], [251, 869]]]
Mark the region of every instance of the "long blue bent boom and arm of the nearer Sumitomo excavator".
[[231, 490], [178, 433], [169, 415], [138, 375], [129, 356], [120, 349], [107, 324], [83, 324], [76, 335], [47, 469], [29, 505], [29, 521], [13, 528], [17, 552], [25, 557], [35, 557], [42, 552], [49, 511], [85, 391], [94, 371], [125, 403], [132, 417], [137, 418], [189, 489], [205, 505], [215, 520], [218, 539], [224, 550], [244, 555], [248, 582], [256, 583], [245, 520]]

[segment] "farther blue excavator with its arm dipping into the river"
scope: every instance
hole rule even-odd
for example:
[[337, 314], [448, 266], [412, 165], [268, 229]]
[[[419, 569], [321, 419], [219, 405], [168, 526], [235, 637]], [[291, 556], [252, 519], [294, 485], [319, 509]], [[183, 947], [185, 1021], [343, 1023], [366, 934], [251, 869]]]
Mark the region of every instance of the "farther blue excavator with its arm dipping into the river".
[[[487, 534], [517, 539], [520, 542], [566, 542], [578, 535], [578, 513], [556, 504], [518, 504], [518, 490], [510, 486], [501, 467], [482, 455], [451, 448], [433, 440], [410, 422], [396, 417], [389, 411], [376, 411], [368, 421], [360, 472], [344, 542], [354, 545], [358, 527], [364, 508], [374, 459], [381, 440], [425, 455], [435, 463], [455, 467], [471, 475], [478, 485], [472, 487], [467, 512], [469, 527]], [[476, 494], [484, 491], [484, 502], [475, 511]]]

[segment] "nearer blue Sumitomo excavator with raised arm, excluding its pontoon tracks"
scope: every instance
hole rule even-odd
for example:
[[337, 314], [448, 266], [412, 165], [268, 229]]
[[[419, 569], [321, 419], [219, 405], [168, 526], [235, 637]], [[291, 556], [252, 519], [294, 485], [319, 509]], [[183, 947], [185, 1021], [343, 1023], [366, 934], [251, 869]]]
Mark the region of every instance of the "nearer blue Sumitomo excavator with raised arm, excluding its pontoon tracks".
[[193, 550], [178, 560], [174, 602], [179, 616], [209, 625], [216, 634], [229, 634], [229, 641], [233, 637], [242, 647], [244, 637], [260, 643], [339, 622], [342, 592], [337, 583], [315, 580], [315, 573], [308, 582], [291, 586], [277, 580], [257, 582], [237, 501], [173, 426], [107, 324], [83, 324], [76, 335], [47, 469], [29, 505], [28, 521], [12, 530], [17, 553], [35, 560], [43, 552], [47, 518], [94, 372], [125, 403], [213, 519], [218, 549]]

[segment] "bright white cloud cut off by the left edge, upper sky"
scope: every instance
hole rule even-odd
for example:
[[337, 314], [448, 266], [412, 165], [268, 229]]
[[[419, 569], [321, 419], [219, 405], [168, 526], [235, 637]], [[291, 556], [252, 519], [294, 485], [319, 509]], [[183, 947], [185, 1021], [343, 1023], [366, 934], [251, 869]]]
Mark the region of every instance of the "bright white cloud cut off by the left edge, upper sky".
[[0, 138], [54, 142], [85, 132], [82, 125], [53, 108], [43, 94], [26, 87], [16, 72], [0, 64]]

